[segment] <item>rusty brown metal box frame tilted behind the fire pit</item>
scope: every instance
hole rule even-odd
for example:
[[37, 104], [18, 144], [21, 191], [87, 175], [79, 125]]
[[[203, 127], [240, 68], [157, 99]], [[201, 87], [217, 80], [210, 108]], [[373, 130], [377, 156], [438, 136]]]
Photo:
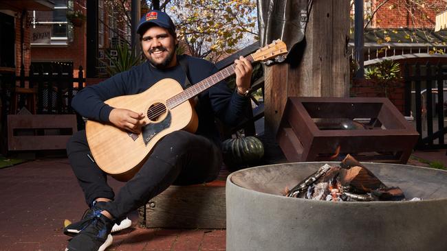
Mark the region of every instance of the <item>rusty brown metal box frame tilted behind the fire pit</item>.
[[[321, 130], [318, 120], [369, 119], [364, 130]], [[408, 160], [419, 134], [391, 101], [382, 97], [290, 97], [276, 139], [290, 162], [329, 160], [341, 154], [358, 160], [402, 163]]]

